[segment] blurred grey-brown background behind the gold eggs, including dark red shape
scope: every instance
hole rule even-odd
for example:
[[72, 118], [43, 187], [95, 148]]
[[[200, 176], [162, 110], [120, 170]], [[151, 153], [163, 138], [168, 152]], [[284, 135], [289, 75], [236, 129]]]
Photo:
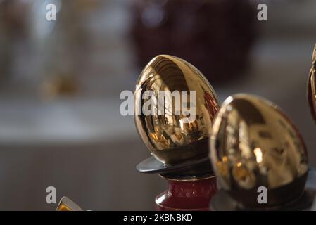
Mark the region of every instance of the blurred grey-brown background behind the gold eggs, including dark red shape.
[[167, 182], [136, 172], [149, 152], [119, 95], [160, 53], [196, 65], [220, 101], [277, 103], [316, 167], [315, 43], [314, 0], [0, 0], [0, 210], [55, 210], [47, 186], [86, 210], [153, 210]]

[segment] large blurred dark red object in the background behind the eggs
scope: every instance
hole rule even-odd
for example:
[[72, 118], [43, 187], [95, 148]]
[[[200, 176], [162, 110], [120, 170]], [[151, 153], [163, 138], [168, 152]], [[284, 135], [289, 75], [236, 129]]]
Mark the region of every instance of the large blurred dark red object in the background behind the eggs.
[[247, 66], [258, 12], [249, 0], [137, 0], [133, 12], [140, 67], [159, 54], [177, 56], [213, 84], [240, 75]]

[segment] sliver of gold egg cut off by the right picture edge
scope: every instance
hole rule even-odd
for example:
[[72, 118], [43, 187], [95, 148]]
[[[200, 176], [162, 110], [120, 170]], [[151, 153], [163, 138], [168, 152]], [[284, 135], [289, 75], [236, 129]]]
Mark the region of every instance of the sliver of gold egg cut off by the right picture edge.
[[310, 105], [310, 113], [316, 122], [316, 45], [312, 53], [312, 68], [308, 77], [308, 103]]

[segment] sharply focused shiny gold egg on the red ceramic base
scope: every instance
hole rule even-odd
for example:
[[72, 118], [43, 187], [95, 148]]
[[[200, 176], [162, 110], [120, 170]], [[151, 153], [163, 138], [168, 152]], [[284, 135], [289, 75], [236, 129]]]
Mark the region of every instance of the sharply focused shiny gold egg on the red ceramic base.
[[[195, 91], [194, 120], [188, 120], [192, 118], [191, 115], [186, 115], [182, 109], [180, 113], [175, 113], [176, 103], [173, 97], [165, 98], [163, 103], [154, 103], [153, 108], [165, 108], [163, 115], [158, 112], [139, 115], [144, 105], [150, 101], [139, 101], [144, 96], [144, 91], [153, 91], [156, 96], [159, 91], [187, 91], [187, 101], [182, 99], [182, 103], [188, 102], [190, 109], [194, 107], [194, 103], [191, 103], [189, 91]], [[172, 108], [168, 108], [168, 105]], [[182, 147], [208, 139], [208, 131], [218, 108], [217, 96], [207, 79], [193, 65], [175, 56], [160, 55], [153, 58], [141, 72], [134, 92], [137, 131], [151, 154], [167, 165], [207, 157], [207, 143], [205, 148]]]

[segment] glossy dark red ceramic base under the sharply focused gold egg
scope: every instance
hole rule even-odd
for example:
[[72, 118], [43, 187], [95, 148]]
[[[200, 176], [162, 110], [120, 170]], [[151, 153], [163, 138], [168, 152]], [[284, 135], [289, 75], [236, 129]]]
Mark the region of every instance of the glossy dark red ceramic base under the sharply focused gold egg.
[[210, 199], [217, 191], [215, 176], [196, 181], [168, 180], [169, 189], [156, 197], [158, 211], [208, 211]]

